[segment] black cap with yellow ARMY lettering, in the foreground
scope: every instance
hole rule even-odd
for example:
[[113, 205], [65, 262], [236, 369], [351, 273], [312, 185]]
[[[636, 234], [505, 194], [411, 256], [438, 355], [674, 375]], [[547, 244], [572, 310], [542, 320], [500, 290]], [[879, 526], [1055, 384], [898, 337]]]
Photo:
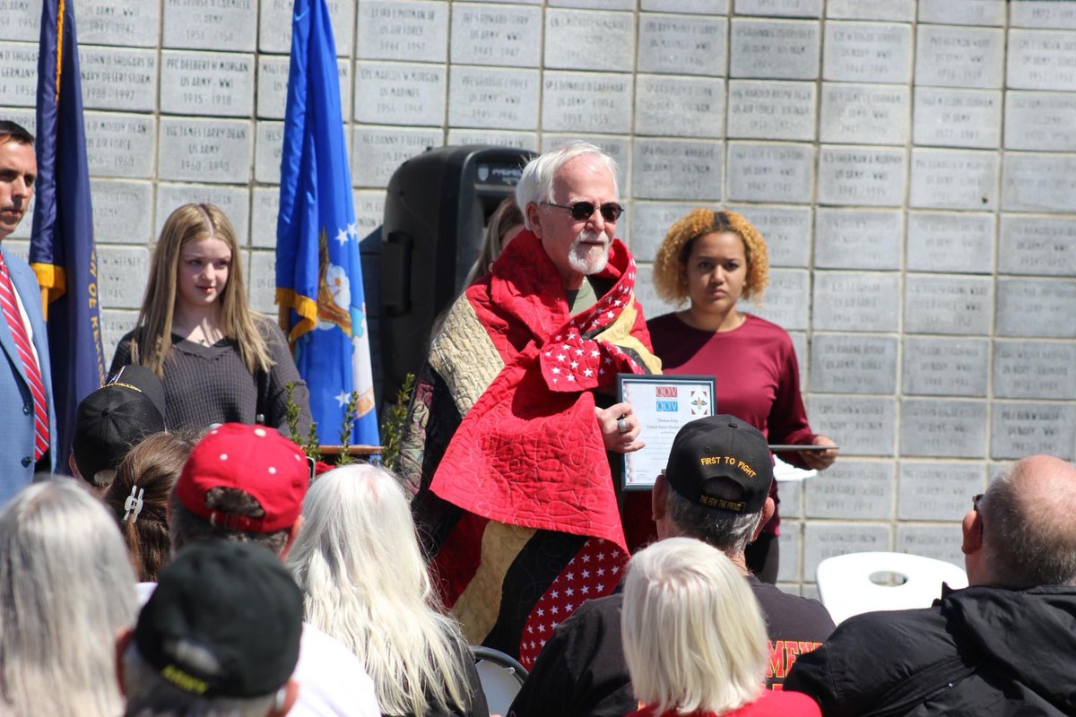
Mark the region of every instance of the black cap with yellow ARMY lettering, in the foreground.
[[271, 694], [299, 660], [302, 594], [280, 559], [252, 543], [193, 543], [160, 573], [134, 644], [176, 688], [204, 697]]

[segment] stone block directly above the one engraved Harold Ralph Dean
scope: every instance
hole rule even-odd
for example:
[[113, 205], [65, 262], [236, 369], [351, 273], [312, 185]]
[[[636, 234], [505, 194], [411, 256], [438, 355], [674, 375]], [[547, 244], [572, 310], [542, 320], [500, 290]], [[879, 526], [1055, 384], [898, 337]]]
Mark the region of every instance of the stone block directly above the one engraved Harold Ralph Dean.
[[728, 74], [816, 80], [820, 40], [818, 20], [734, 19]]

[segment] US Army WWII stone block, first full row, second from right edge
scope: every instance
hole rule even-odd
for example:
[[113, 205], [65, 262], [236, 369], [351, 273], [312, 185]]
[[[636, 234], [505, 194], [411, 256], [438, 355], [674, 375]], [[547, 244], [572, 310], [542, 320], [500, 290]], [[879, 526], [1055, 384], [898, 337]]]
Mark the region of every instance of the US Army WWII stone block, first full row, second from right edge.
[[917, 85], [1001, 88], [1004, 30], [920, 25], [918, 33]]

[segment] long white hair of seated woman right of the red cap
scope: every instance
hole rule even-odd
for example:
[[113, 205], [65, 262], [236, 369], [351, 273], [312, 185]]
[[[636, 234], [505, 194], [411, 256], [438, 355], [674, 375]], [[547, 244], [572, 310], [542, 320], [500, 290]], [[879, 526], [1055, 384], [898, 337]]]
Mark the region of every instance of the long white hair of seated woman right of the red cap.
[[307, 621], [363, 661], [384, 714], [467, 708], [469, 650], [440, 610], [397, 478], [338, 468], [314, 482], [302, 513], [287, 565]]

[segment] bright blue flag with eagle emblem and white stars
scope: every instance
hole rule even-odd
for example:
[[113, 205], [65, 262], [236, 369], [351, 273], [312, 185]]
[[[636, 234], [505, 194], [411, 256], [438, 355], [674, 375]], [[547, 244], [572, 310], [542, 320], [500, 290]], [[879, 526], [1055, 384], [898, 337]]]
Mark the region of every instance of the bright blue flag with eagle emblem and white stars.
[[379, 443], [358, 239], [329, 11], [325, 0], [295, 0], [277, 303], [325, 444], [339, 443], [352, 391], [359, 396], [352, 441]]

